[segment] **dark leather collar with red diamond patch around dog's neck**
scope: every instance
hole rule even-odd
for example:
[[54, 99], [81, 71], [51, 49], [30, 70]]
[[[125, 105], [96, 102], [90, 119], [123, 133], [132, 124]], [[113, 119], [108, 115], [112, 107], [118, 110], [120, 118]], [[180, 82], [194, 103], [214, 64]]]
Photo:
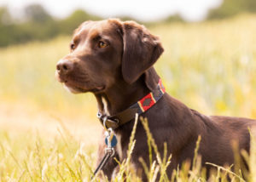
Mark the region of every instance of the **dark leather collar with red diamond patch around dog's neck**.
[[134, 119], [135, 114], [142, 114], [145, 111], [148, 111], [160, 98], [165, 94], [166, 89], [164, 88], [161, 80], [157, 84], [157, 88], [154, 91], [150, 92], [143, 99], [138, 100], [137, 103], [131, 105], [125, 111], [119, 112], [117, 115], [108, 116], [102, 114], [100, 111], [97, 113], [97, 117], [105, 128], [119, 128], [119, 126], [130, 122]]

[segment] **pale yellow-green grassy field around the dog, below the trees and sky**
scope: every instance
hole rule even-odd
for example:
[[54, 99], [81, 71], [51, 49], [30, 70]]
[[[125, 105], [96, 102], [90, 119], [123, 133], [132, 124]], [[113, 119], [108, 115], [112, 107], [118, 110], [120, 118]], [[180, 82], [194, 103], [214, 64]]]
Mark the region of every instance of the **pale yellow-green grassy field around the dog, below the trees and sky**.
[[[165, 48], [155, 68], [167, 92], [208, 115], [256, 118], [255, 22], [255, 15], [244, 14], [151, 26]], [[55, 81], [55, 64], [67, 54], [69, 41], [58, 37], [0, 49], [0, 181], [90, 179], [101, 130], [96, 100], [91, 94], [69, 94]], [[162, 172], [164, 164], [148, 173], [151, 181], [157, 168]], [[177, 181], [204, 181], [199, 169], [189, 172], [184, 166]], [[248, 176], [256, 181], [253, 172]]]

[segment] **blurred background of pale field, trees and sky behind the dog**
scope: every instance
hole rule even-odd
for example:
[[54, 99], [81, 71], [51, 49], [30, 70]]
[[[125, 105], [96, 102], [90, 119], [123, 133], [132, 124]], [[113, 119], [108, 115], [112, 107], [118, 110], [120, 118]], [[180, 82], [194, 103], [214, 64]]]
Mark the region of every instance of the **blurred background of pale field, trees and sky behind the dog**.
[[95, 144], [92, 94], [55, 80], [73, 30], [85, 20], [137, 20], [165, 48], [156, 63], [167, 92], [207, 115], [256, 117], [256, 1], [0, 2], [0, 132], [51, 136], [66, 127]]

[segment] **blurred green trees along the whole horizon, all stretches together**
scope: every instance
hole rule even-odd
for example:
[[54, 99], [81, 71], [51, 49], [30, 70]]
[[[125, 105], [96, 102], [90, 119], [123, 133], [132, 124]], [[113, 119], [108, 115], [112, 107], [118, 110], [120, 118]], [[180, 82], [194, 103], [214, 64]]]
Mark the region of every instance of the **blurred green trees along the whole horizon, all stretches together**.
[[[216, 9], [211, 9], [207, 20], [224, 19], [243, 12], [256, 13], [256, 0], [224, 0]], [[134, 20], [121, 17], [122, 20]], [[6, 7], [0, 7], [0, 47], [11, 44], [26, 43], [32, 40], [48, 40], [61, 34], [70, 35], [84, 20], [102, 20], [102, 17], [88, 14], [78, 9], [65, 19], [56, 19], [39, 4], [32, 4], [24, 9], [24, 17], [15, 20]], [[157, 23], [184, 22], [179, 14], [158, 22], [141, 22], [155, 25]]]

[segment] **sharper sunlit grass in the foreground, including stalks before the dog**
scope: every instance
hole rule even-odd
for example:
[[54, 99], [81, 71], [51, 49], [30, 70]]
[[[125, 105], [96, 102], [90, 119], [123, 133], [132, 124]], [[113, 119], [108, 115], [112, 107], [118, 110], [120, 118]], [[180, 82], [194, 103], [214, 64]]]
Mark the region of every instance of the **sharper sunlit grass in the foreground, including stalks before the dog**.
[[[197, 151], [200, 148], [201, 137], [199, 136], [193, 162], [184, 162], [182, 168], [175, 170], [172, 176], [166, 173], [166, 168], [172, 162], [172, 155], [161, 156], [154, 144], [154, 139], [148, 128], [148, 121], [141, 118], [138, 122], [143, 122], [143, 127], [148, 136], [149, 145], [153, 147], [151, 154], [156, 155], [156, 160], [146, 166], [143, 160], [144, 170], [150, 182], [166, 181], [207, 181], [206, 171], [201, 167], [201, 156]], [[127, 159], [119, 162], [119, 173], [113, 181], [139, 182], [142, 181], [136, 174], [131, 161], [133, 148], [136, 147], [134, 134], [137, 122], [131, 134]], [[15, 137], [8, 133], [0, 134], [0, 181], [90, 181], [93, 176], [96, 158], [96, 146], [79, 142], [68, 133], [66, 129], [60, 129], [55, 138], [49, 139], [39, 134], [22, 134]], [[255, 181], [255, 140], [251, 141], [251, 156], [245, 154], [248, 167], [252, 173], [241, 175], [234, 173], [229, 167], [220, 167], [212, 163], [216, 171], [211, 174], [211, 181]], [[150, 156], [150, 155], [149, 155]], [[191, 168], [190, 168], [191, 167]], [[102, 177], [104, 179], [104, 177]], [[102, 181], [96, 177], [93, 181]], [[105, 178], [104, 181], [107, 181]]]

